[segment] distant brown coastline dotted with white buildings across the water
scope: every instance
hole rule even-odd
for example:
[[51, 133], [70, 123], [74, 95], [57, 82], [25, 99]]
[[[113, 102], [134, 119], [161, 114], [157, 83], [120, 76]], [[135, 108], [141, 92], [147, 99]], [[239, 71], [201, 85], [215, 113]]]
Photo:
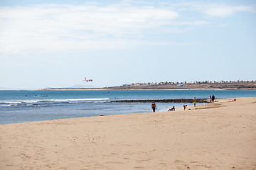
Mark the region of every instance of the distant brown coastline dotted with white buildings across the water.
[[[182, 85], [182, 86], [181, 86]], [[196, 81], [124, 84], [102, 88], [48, 88], [40, 90], [256, 90], [256, 81]]]

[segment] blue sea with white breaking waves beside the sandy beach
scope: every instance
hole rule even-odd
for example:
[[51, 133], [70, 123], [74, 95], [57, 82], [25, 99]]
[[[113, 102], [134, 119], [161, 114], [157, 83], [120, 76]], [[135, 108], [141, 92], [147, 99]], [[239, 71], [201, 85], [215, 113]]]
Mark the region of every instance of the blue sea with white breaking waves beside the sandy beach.
[[[151, 112], [151, 103], [118, 100], [255, 97], [255, 90], [0, 91], [0, 124]], [[192, 103], [156, 103], [156, 111]]]

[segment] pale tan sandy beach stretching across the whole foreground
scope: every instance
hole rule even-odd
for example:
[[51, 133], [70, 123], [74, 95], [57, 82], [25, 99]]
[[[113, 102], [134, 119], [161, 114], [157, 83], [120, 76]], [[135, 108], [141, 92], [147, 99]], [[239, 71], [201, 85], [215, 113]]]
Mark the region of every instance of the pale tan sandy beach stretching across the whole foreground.
[[256, 98], [231, 100], [0, 125], [0, 169], [256, 169]]

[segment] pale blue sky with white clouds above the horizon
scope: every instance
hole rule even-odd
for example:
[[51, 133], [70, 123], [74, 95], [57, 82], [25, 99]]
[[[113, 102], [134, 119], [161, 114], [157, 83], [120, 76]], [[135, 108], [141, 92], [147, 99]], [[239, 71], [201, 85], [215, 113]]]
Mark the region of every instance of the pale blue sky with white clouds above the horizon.
[[0, 0], [0, 89], [255, 80], [255, 65], [253, 0]]

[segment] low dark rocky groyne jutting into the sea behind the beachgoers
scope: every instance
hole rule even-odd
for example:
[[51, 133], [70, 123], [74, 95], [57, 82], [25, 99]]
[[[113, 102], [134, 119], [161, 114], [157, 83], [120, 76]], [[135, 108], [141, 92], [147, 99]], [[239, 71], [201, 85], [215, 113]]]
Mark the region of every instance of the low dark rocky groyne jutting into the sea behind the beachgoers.
[[[112, 103], [193, 103], [193, 99], [142, 99], [142, 100], [120, 100], [120, 101], [110, 101]], [[209, 103], [206, 98], [196, 99], [196, 103]]]

